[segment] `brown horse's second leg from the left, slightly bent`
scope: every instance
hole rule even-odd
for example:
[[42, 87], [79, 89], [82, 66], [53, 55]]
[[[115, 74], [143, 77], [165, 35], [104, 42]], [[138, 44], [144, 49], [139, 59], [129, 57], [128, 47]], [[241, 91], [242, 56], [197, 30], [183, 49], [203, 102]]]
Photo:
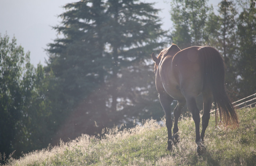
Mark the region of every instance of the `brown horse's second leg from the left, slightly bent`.
[[176, 145], [177, 143], [180, 142], [180, 136], [178, 135], [178, 120], [181, 114], [181, 109], [184, 107], [184, 105], [186, 104], [185, 100], [178, 100], [178, 104], [176, 106], [176, 108], [174, 109], [174, 127], [173, 127], [173, 136], [172, 136], [172, 140], [173, 140], [173, 144]]

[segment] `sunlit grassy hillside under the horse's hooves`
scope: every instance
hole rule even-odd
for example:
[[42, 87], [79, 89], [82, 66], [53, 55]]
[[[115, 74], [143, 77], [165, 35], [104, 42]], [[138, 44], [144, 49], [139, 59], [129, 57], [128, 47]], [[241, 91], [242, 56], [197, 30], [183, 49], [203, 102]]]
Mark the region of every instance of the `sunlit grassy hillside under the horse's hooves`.
[[[167, 129], [154, 120], [126, 129], [114, 127], [100, 139], [82, 135], [68, 143], [25, 154], [7, 165], [256, 165], [256, 108], [237, 110], [240, 126], [217, 127], [212, 115], [205, 135], [206, 153], [198, 156], [192, 118], [179, 122], [180, 143], [166, 151]], [[120, 130], [120, 128], [123, 128]]]

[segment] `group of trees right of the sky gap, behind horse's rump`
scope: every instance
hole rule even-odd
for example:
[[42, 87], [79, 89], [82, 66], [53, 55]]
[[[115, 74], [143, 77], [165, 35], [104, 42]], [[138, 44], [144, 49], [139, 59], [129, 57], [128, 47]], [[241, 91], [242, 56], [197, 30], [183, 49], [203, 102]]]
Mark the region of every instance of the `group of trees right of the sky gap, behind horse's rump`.
[[[200, 5], [196, 8], [194, 4]], [[238, 9], [242, 10], [240, 14]], [[216, 15], [212, 7], [207, 6], [207, 1], [173, 1], [171, 15], [175, 28], [171, 33], [172, 42], [178, 45], [182, 43], [180, 47], [209, 44], [217, 48], [227, 66], [227, 88], [231, 98], [236, 100], [255, 93], [252, 83], [247, 85], [246, 81], [242, 81], [242, 75], [248, 81], [253, 81], [252, 76], [255, 75], [255, 65], [252, 65], [256, 57], [253, 20], [255, 1], [223, 0], [219, 3], [217, 11]]]

